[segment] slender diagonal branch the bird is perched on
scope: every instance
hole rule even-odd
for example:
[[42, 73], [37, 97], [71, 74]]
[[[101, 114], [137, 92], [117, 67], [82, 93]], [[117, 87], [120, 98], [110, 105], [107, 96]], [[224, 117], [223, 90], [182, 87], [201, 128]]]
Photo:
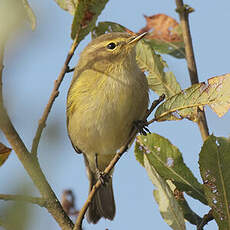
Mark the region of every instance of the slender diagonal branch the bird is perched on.
[[[148, 118], [148, 116], [152, 113], [152, 111], [156, 108], [156, 106], [164, 100], [164, 98], [165, 98], [165, 96], [162, 95], [159, 97], [158, 100], [153, 101], [150, 109], [147, 110], [147, 112], [146, 112], [146, 115], [143, 119], [144, 121]], [[114, 158], [110, 161], [109, 165], [106, 167], [106, 169], [104, 171], [104, 175], [108, 175], [112, 171], [112, 169], [114, 168], [116, 163], [119, 161], [121, 156], [128, 150], [130, 143], [133, 141], [133, 139], [137, 135], [137, 133], [138, 133], [138, 129], [136, 127], [134, 127], [128, 140], [126, 141], [126, 143], [120, 148], [119, 152], [114, 156]], [[102, 184], [101, 180], [98, 180], [97, 183], [93, 186], [91, 192], [88, 195], [88, 198], [87, 198], [84, 206], [81, 208], [81, 210], [78, 214], [78, 218], [76, 220], [76, 223], [75, 223], [73, 230], [82, 230], [82, 227], [81, 227], [82, 221], [83, 221], [83, 218], [84, 218], [85, 213], [87, 211], [87, 208], [89, 207], [90, 203], [92, 202], [92, 199], [93, 199], [96, 191], [100, 188], [101, 184]]]

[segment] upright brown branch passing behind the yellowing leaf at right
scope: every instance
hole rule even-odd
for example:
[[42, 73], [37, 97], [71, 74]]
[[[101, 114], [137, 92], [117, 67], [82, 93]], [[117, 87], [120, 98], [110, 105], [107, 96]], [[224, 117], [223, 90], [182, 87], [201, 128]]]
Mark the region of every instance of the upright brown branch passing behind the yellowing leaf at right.
[[[188, 17], [189, 13], [193, 12], [193, 9], [191, 7], [184, 5], [183, 0], [175, 0], [175, 1], [177, 6], [176, 11], [179, 13], [179, 17], [180, 17], [180, 24], [181, 24], [182, 34], [183, 34], [183, 39], [185, 44], [185, 54], [186, 54], [188, 71], [190, 75], [190, 81], [191, 84], [196, 84], [199, 82], [199, 79], [198, 79], [196, 61], [195, 61], [195, 56], [193, 51], [192, 36], [190, 33], [189, 17]], [[197, 124], [199, 126], [202, 139], [203, 141], [205, 141], [209, 136], [209, 130], [208, 130], [205, 112], [201, 111], [199, 108], [198, 108]]]

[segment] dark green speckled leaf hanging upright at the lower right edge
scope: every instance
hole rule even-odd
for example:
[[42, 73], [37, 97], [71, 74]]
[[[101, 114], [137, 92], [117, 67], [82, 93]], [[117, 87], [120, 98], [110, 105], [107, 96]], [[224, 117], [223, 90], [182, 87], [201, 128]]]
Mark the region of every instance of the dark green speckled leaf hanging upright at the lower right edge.
[[220, 230], [230, 229], [230, 141], [211, 135], [200, 152], [204, 191]]

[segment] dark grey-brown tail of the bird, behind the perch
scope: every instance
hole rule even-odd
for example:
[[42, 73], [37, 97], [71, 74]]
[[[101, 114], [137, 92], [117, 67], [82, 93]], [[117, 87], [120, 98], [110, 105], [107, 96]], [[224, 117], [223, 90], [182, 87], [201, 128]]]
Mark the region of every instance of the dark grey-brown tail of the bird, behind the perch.
[[[89, 191], [97, 182], [97, 175], [88, 169], [89, 176]], [[97, 190], [91, 204], [87, 210], [87, 220], [89, 223], [96, 224], [100, 218], [104, 217], [113, 220], [115, 216], [115, 201], [113, 196], [112, 178], [105, 185], [100, 186]]]

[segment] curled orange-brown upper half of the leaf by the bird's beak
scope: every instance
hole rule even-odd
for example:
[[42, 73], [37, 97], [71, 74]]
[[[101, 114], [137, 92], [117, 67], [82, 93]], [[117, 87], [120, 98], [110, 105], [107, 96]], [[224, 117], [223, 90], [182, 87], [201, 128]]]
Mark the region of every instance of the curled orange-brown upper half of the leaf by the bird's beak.
[[167, 42], [181, 42], [182, 37], [176, 32], [179, 23], [165, 14], [156, 14], [152, 16], [144, 15], [146, 26], [139, 33], [149, 32], [148, 39], [159, 39]]

